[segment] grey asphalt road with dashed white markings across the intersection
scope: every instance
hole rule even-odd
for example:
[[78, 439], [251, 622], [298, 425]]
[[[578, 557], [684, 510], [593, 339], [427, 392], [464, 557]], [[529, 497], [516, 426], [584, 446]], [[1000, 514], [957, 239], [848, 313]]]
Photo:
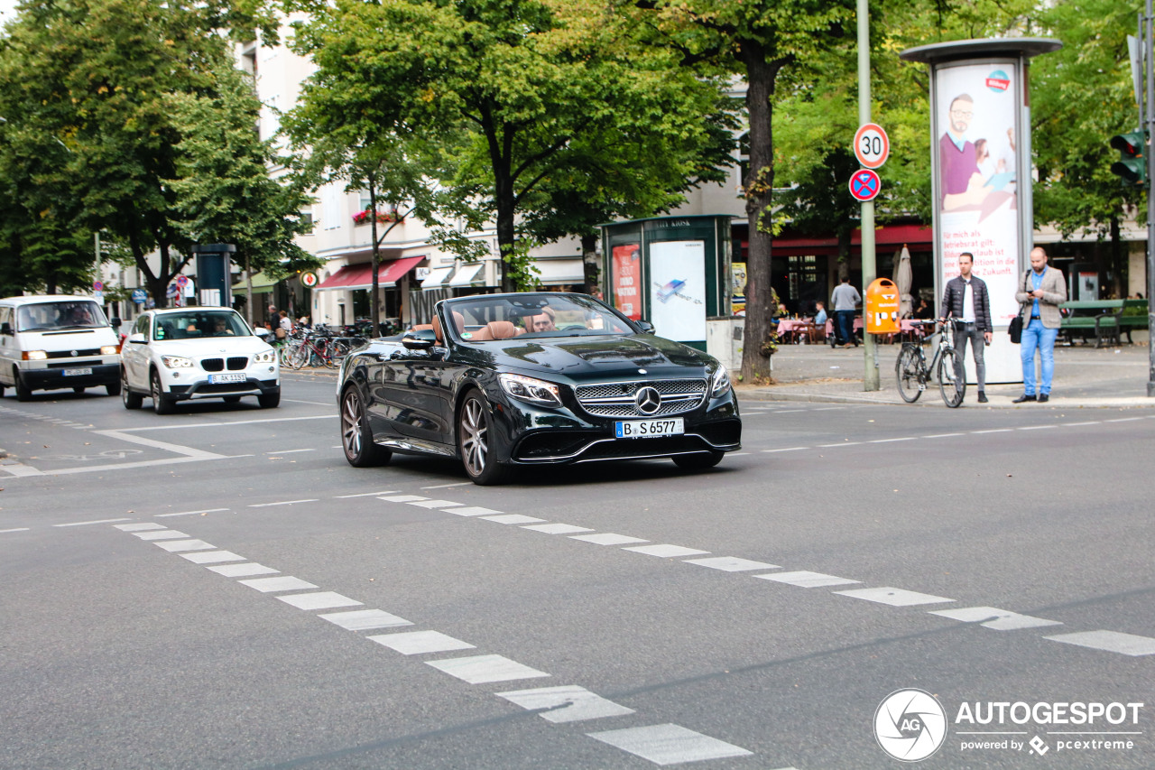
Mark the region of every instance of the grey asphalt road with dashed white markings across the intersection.
[[743, 416], [479, 488], [349, 467], [328, 379], [3, 398], [0, 768], [1155, 767], [1155, 412]]

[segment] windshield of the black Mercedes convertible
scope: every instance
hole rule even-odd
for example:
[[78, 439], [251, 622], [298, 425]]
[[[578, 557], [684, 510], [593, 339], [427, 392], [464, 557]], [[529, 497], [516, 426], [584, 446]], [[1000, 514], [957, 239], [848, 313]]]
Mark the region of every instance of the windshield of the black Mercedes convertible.
[[472, 342], [635, 333], [620, 316], [583, 295], [479, 295], [449, 302], [446, 308], [454, 313], [457, 336]]

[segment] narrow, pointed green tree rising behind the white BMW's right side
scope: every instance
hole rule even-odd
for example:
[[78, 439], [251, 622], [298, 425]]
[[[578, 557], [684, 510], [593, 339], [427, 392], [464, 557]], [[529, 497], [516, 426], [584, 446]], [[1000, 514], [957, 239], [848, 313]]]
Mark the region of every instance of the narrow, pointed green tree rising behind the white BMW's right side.
[[[260, 102], [252, 79], [230, 62], [215, 71], [216, 94], [178, 92], [167, 97], [184, 127], [176, 147], [177, 228], [189, 243], [231, 243], [252, 295], [252, 275], [263, 271], [277, 277], [320, 266], [320, 260], [293, 242], [305, 229], [300, 210], [312, 199], [301, 180], [283, 168], [271, 141], [256, 132]], [[253, 305], [246, 304], [252, 325]]]

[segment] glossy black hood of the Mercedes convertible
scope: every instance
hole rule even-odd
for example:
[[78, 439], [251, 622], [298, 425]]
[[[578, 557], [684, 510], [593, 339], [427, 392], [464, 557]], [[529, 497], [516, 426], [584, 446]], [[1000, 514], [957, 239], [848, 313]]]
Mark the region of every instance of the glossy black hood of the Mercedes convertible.
[[639, 369], [656, 375], [714, 363], [714, 358], [701, 350], [653, 334], [514, 338], [487, 342], [485, 349], [494, 354], [494, 363], [499, 367], [522, 370], [544, 368], [579, 378], [589, 375], [636, 378]]

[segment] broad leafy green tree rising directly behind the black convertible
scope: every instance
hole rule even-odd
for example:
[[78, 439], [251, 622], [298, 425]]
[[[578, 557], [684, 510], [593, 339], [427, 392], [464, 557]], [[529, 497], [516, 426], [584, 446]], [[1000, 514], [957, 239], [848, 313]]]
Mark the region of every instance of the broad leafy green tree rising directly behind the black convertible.
[[[476, 192], [477, 212], [495, 223], [505, 290], [531, 282], [529, 238], [588, 235], [604, 212], [669, 206], [669, 191], [702, 170], [703, 148], [717, 139], [703, 121], [717, 108], [717, 83], [673, 66], [666, 52], [628, 45], [620, 20], [588, 0], [307, 8], [296, 50], [356, 82], [366, 114], [438, 140], [465, 132], [448, 185]], [[624, 168], [627, 142], [678, 172]], [[579, 179], [583, 168], [598, 173]]]

